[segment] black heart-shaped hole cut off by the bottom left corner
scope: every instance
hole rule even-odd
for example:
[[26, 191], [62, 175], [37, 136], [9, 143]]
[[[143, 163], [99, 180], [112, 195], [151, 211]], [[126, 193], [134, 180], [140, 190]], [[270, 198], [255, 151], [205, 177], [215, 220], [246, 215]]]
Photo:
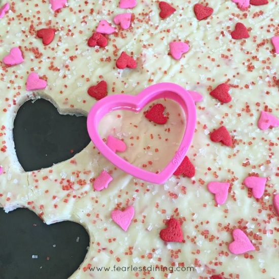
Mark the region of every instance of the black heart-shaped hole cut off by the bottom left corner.
[[26, 208], [0, 211], [2, 279], [68, 278], [87, 253], [89, 236], [74, 222], [46, 225]]

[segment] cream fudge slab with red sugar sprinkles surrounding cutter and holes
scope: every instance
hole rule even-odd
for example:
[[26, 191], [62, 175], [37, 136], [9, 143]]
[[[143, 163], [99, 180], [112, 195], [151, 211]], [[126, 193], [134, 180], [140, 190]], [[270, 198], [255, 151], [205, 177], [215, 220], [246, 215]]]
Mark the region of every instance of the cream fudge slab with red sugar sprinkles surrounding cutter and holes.
[[[131, 27], [118, 28], [108, 37], [106, 48], [90, 48], [87, 40], [100, 20], [112, 23], [115, 15], [127, 12], [118, 1], [68, 0], [55, 13], [48, 0], [10, 2], [11, 9], [0, 19], [0, 164], [4, 169], [0, 205], [7, 212], [27, 207], [47, 224], [71, 220], [87, 229], [89, 251], [71, 278], [208, 278], [214, 274], [276, 278], [279, 218], [272, 197], [279, 191], [279, 129], [260, 130], [257, 121], [262, 110], [279, 117], [279, 57], [271, 44], [279, 32], [279, 5], [269, 0], [267, 5], [241, 11], [232, 1], [214, 1], [209, 3], [213, 15], [198, 21], [193, 12], [197, 1], [168, 3], [176, 12], [162, 20], [156, 1], [138, 0], [128, 10], [134, 15]], [[245, 24], [250, 38], [231, 38], [237, 22]], [[36, 37], [37, 30], [45, 27], [57, 30], [48, 46]], [[168, 55], [174, 40], [190, 46], [180, 60]], [[2, 59], [12, 47], [21, 47], [24, 62], [7, 67]], [[122, 51], [136, 59], [135, 69], [117, 69]], [[46, 89], [26, 91], [31, 72], [47, 78]], [[159, 82], [177, 83], [203, 95], [196, 104], [196, 131], [187, 153], [196, 168], [192, 179], [172, 176], [164, 185], [137, 180], [112, 165], [92, 143], [67, 161], [23, 171], [12, 140], [13, 119], [21, 104], [31, 97], [44, 97], [60, 113], [86, 115], [96, 101], [87, 89], [100, 80], [107, 81], [109, 95], [135, 95]], [[225, 82], [232, 101], [221, 104], [209, 93]], [[120, 121], [127, 125], [129, 119]], [[209, 133], [220, 125], [233, 136], [232, 148], [210, 140]], [[153, 125], [146, 127], [147, 133], [153, 130]], [[97, 192], [92, 184], [103, 169], [113, 181], [108, 189]], [[259, 200], [242, 184], [249, 173], [268, 178]], [[222, 206], [207, 190], [212, 181], [230, 183]], [[135, 215], [124, 232], [112, 221], [111, 212], [128, 205], [134, 206]], [[159, 237], [163, 221], [170, 217], [183, 222], [185, 242], [166, 243]], [[247, 233], [256, 251], [229, 252], [235, 228]], [[88, 269], [130, 265], [184, 265], [195, 271]]]

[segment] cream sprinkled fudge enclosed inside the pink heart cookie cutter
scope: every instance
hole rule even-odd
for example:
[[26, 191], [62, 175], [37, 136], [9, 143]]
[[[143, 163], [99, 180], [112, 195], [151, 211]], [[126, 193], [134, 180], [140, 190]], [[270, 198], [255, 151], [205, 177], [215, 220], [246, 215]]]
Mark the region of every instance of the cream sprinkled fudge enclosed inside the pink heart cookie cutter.
[[[151, 111], [154, 114], [147, 118], [147, 113]], [[117, 152], [117, 155], [136, 167], [154, 173], [160, 173], [175, 156], [185, 129], [184, 111], [179, 103], [166, 98], [148, 103], [138, 112], [110, 112], [98, 125], [104, 142], [113, 136], [125, 143], [126, 150]]]

